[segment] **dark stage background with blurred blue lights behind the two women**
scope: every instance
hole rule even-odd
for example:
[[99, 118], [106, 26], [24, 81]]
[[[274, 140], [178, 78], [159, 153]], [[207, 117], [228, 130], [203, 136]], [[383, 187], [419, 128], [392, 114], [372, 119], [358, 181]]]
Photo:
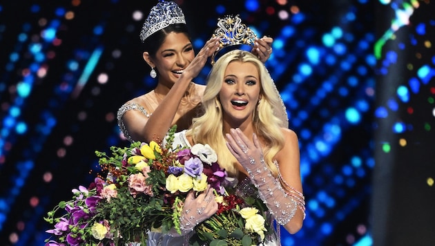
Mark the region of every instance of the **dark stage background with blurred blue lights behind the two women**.
[[[1, 245], [43, 245], [43, 216], [98, 173], [94, 151], [128, 144], [116, 112], [155, 85], [138, 36], [156, 2], [0, 3]], [[283, 245], [435, 242], [434, 3], [177, 3], [195, 50], [226, 14], [274, 39], [307, 201]]]

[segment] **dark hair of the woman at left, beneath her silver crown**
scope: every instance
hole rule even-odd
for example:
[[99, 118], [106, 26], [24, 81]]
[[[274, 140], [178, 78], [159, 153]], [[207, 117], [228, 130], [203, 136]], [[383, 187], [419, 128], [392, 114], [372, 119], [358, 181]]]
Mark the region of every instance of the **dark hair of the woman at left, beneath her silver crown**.
[[191, 36], [189, 35], [189, 30], [187, 29], [186, 24], [172, 24], [166, 28], [154, 32], [150, 37], [147, 37], [142, 43], [142, 51], [147, 51], [149, 55], [154, 58], [155, 53], [157, 53], [157, 50], [160, 48], [160, 46], [162, 46], [166, 36], [171, 32], [184, 33], [187, 38], [191, 40]]

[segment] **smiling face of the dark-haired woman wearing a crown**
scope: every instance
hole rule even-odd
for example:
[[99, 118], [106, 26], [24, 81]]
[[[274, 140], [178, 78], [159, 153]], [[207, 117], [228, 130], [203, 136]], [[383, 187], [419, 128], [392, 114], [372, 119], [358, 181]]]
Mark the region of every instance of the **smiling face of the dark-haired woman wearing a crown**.
[[169, 33], [155, 54], [160, 82], [174, 84], [194, 57], [193, 45], [184, 33]]

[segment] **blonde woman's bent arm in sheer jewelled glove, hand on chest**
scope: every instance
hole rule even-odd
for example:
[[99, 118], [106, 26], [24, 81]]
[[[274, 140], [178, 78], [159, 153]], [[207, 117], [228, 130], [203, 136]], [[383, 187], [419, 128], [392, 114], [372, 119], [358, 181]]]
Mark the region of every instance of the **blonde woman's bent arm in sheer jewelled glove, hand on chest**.
[[226, 135], [227, 146], [235, 158], [247, 170], [251, 181], [258, 188], [260, 198], [273, 214], [277, 223], [290, 234], [302, 228], [305, 218], [305, 198], [300, 179], [300, 154], [298, 138], [289, 129], [282, 129], [284, 148], [276, 155], [280, 175], [274, 177], [264, 162], [257, 136], [247, 138], [240, 129], [231, 129]]

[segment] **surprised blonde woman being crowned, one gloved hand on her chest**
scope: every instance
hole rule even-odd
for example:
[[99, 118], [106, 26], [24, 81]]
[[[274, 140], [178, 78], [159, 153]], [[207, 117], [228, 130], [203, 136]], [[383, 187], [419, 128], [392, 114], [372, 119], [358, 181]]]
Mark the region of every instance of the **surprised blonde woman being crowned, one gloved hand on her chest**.
[[[191, 129], [176, 134], [174, 145], [209, 144], [220, 166], [237, 178], [237, 188], [255, 185], [276, 222], [295, 234], [305, 218], [299, 145], [296, 133], [281, 127], [274, 114], [280, 107], [264, 64], [247, 51], [230, 51], [211, 70], [203, 115], [193, 119]], [[201, 201], [195, 205], [203, 206]], [[185, 205], [184, 211], [195, 208]], [[265, 245], [279, 245], [277, 236]]]

